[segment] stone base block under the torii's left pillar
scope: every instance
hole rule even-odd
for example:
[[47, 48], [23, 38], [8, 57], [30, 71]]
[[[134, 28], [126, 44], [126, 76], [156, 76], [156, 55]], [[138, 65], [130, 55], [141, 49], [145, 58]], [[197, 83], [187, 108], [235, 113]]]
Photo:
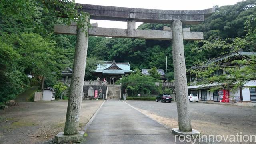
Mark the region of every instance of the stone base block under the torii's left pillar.
[[64, 132], [60, 132], [55, 136], [55, 142], [57, 144], [66, 144], [73, 142], [82, 142], [84, 138], [84, 131], [78, 131], [78, 134], [74, 135], [64, 135]]

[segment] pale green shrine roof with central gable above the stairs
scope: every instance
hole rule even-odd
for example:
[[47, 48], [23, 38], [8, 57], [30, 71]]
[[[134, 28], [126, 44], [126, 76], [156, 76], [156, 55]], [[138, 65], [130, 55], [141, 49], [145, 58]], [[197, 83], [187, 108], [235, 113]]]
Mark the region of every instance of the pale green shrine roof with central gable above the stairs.
[[113, 62], [105, 61], [103, 64], [97, 64], [94, 72], [102, 72], [102, 74], [125, 74], [134, 72], [130, 69], [130, 62]]

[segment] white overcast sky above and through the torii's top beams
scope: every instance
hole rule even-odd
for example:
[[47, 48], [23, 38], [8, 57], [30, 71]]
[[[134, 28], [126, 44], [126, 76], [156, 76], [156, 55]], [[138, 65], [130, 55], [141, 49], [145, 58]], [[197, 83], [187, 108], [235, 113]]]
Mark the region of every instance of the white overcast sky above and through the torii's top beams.
[[[236, 4], [242, 0], [75, 0], [80, 4], [94, 4], [102, 6], [119, 6], [127, 8], [150, 8], [162, 10], [202, 10], [215, 5], [224, 6]], [[90, 20], [98, 23], [98, 27], [126, 28], [126, 22]], [[136, 23], [136, 28], [142, 23]]]

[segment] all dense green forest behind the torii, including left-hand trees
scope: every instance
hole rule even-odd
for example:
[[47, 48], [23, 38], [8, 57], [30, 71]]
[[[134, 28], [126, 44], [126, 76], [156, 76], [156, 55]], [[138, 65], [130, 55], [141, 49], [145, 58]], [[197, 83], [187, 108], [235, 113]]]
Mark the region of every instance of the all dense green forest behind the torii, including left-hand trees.
[[[51, 1], [57, 2], [49, 0]], [[0, 3], [0, 102], [14, 98], [29, 86], [40, 84], [43, 77], [46, 86], [53, 86], [60, 76], [60, 71], [66, 66], [72, 67], [76, 36], [53, 33], [54, 24], [64, 24], [65, 20], [57, 18], [56, 14], [47, 9], [48, 5], [44, 2], [28, 0]], [[9, 9], [6, 9], [6, 6]], [[205, 22], [184, 28], [191, 27], [192, 31], [204, 32], [207, 42], [221, 39], [231, 42], [236, 37], [244, 38], [248, 34], [245, 25], [248, 20], [252, 21], [250, 28], [255, 29], [255, 0], [215, 7], [216, 12], [206, 18]], [[145, 23], [138, 29], [162, 30], [163, 26], [170, 24]], [[201, 49], [204, 43], [184, 42], [187, 67], [218, 57], [225, 52], [210, 48]], [[244, 49], [253, 51], [252, 46], [246, 46]], [[90, 70], [98, 60], [130, 61], [132, 69], [156, 67], [166, 70], [166, 56], [168, 79], [172, 80], [174, 76], [170, 41], [90, 36], [86, 77], [92, 78]], [[34, 78], [28, 78], [27, 74], [33, 75]]]

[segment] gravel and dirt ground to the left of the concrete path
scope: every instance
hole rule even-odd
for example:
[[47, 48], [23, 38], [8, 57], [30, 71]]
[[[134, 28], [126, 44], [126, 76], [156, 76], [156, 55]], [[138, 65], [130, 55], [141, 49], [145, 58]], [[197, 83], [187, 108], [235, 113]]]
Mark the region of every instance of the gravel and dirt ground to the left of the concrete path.
[[[82, 101], [80, 130], [102, 104], [102, 100]], [[42, 144], [64, 131], [67, 100], [21, 102], [0, 110], [0, 144]]]

